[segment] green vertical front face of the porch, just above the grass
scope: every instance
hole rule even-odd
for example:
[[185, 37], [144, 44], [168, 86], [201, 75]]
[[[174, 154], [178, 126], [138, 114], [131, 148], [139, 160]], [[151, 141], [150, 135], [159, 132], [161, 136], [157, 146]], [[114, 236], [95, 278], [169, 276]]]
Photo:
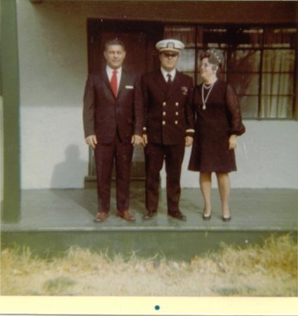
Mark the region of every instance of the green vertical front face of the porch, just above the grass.
[[[100, 224], [101, 225], [101, 224]], [[245, 248], [252, 244], [262, 246], [271, 235], [289, 234], [297, 241], [297, 232], [254, 230], [161, 230], [142, 227], [126, 229], [68, 228], [51, 230], [28, 230], [1, 232], [1, 249], [18, 246], [29, 248], [42, 258], [65, 254], [72, 246], [104, 253], [110, 257], [121, 254], [141, 258], [167, 258], [175, 261], [190, 261], [194, 256], [203, 256], [216, 251], [224, 244]]]

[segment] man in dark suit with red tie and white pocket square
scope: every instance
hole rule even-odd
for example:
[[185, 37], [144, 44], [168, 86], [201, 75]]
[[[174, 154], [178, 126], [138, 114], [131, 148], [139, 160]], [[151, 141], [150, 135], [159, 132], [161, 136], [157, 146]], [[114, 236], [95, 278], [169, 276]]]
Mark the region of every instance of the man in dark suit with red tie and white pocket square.
[[95, 152], [98, 212], [95, 222], [109, 216], [111, 173], [116, 166], [117, 216], [135, 220], [129, 211], [130, 166], [133, 147], [142, 143], [144, 109], [140, 79], [123, 69], [124, 45], [118, 39], [105, 44], [107, 66], [90, 74], [83, 104], [86, 143]]

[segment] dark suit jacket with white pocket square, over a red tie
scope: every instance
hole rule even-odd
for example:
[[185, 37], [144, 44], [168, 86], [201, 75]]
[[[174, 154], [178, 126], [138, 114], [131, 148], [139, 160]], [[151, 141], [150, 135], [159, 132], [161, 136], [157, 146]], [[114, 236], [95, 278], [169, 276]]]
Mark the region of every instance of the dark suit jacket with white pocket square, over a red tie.
[[117, 98], [111, 90], [106, 70], [90, 74], [83, 97], [85, 137], [97, 136], [97, 142], [111, 143], [117, 133], [123, 142], [133, 134], [142, 136], [144, 106], [140, 78], [122, 69]]

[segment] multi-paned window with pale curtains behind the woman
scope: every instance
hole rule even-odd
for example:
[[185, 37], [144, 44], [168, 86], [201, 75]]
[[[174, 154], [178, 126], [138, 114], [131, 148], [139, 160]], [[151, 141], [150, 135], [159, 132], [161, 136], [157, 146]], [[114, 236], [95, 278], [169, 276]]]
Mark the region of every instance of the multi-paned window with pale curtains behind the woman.
[[164, 35], [184, 42], [178, 68], [196, 84], [202, 81], [201, 52], [217, 48], [224, 53], [221, 75], [236, 89], [245, 119], [292, 119], [297, 28], [166, 25]]

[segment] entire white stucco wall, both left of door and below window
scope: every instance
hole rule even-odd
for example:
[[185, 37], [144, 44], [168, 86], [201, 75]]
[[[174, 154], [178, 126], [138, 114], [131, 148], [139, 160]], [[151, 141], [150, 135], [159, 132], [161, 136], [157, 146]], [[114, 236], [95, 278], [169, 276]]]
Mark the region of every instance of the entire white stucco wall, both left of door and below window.
[[[21, 186], [83, 187], [88, 148], [83, 141], [82, 99], [87, 77], [88, 10], [18, 0], [20, 53]], [[233, 187], [298, 188], [298, 122], [245, 121]], [[198, 187], [187, 171], [182, 187]], [[165, 173], [162, 172], [162, 185]], [[214, 183], [216, 186], [216, 182]]]

